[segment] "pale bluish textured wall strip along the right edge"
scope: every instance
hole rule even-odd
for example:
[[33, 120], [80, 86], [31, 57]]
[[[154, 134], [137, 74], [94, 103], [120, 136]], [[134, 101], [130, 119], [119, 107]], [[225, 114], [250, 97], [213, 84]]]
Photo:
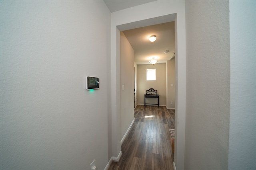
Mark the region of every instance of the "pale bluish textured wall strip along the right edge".
[[256, 1], [230, 1], [228, 169], [256, 169]]

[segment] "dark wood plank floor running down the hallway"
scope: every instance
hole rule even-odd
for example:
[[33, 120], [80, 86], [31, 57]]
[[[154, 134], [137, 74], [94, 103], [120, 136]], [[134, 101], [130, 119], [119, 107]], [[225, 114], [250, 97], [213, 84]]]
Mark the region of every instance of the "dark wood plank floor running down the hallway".
[[[154, 117], [144, 117], [150, 115]], [[174, 110], [138, 105], [134, 116], [122, 156], [108, 170], [173, 170], [169, 129], [174, 129]]]

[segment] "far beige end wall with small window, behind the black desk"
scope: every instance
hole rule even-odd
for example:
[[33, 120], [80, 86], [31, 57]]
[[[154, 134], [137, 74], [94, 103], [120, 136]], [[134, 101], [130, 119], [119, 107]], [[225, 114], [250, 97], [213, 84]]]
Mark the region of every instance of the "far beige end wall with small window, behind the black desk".
[[[146, 80], [146, 70], [156, 68], [156, 81]], [[149, 88], [154, 88], [159, 94], [159, 105], [166, 106], [166, 64], [143, 64], [138, 65], [138, 104], [144, 105], [144, 94]], [[155, 99], [147, 99], [147, 103], [156, 103]]]

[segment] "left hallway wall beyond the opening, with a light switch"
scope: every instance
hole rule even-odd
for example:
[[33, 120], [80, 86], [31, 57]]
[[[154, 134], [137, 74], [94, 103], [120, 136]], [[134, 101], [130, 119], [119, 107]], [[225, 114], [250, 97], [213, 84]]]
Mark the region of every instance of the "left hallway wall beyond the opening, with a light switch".
[[121, 137], [123, 138], [134, 119], [134, 50], [120, 32], [120, 85], [121, 90]]

